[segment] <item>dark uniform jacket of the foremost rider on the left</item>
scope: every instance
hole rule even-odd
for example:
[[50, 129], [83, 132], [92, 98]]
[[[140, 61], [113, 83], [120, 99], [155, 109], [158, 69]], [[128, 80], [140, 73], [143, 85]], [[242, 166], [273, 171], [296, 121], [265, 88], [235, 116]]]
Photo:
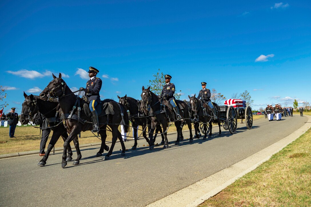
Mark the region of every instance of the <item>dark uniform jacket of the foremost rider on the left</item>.
[[95, 77], [91, 81], [88, 80], [86, 82], [85, 96], [91, 102], [91, 100], [95, 100], [100, 104], [100, 95], [99, 91], [101, 89], [102, 81], [100, 78]]

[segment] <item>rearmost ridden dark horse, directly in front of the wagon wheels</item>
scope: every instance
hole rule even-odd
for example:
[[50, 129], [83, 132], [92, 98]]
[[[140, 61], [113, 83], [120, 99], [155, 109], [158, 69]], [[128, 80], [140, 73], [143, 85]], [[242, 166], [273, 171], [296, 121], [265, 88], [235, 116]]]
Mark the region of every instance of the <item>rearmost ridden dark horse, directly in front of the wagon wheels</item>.
[[[209, 131], [209, 135], [208, 135], [208, 138], [211, 138], [211, 135], [212, 135], [212, 124], [213, 123], [218, 123], [218, 126], [219, 126], [219, 134], [218, 136], [221, 136], [221, 130], [220, 130], [220, 119], [217, 117], [216, 120], [213, 119], [213, 114], [212, 114], [212, 111], [211, 111], [211, 108], [204, 102], [202, 102], [200, 99], [197, 99], [195, 97], [195, 94], [194, 96], [190, 97], [188, 95], [189, 99], [190, 99], [190, 104], [191, 104], [191, 108], [192, 108], [192, 111], [194, 113], [195, 116], [198, 117], [199, 121], [205, 123], [204, 124], [204, 132], [205, 132], [205, 135], [203, 137], [203, 140], [206, 140], [206, 137], [207, 137], [207, 123], [209, 123], [209, 127], [210, 127], [210, 131]], [[216, 110], [218, 110], [218, 112], [220, 111], [220, 108], [219, 106], [212, 102], [214, 107], [216, 108]]]

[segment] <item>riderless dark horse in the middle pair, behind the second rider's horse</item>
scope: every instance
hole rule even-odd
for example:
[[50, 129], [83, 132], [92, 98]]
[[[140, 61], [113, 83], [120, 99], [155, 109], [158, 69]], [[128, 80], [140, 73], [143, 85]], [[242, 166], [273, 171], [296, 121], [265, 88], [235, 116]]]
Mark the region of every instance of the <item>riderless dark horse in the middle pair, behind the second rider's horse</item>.
[[[134, 145], [132, 146], [132, 150], [136, 150], [137, 148], [137, 129], [138, 126], [142, 126], [143, 132], [142, 136], [146, 139], [149, 144], [149, 139], [146, 136], [146, 127], [151, 124], [151, 119], [149, 117], [144, 116], [144, 113], [140, 113], [140, 102], [132, 97], [128, 97], [126, 94], [123, 97], [118, 96], [119, 103], [124, 106], [126, 110], [130, 112], [129, 118], [132, 122], [132, 127], [134, 131]], [[141, 117], [140, 115], [143, 115]], [[149, 129], [148, 129], [149, 130]], [[156, 141], [156, 135], [160, 131], [162, 136], [161, 145], [164, 145], [164, 135], [162, 133], [162, 128], [160, 125], [156, 127], [156, 134], [153, 138], [153, 142]]]

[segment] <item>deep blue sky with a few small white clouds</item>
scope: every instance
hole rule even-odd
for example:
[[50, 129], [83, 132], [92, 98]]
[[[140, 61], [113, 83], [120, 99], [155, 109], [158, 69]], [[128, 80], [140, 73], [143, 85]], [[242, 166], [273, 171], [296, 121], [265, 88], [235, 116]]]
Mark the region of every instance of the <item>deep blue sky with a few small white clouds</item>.
[[181, 99], [205, 81], [227, 98], [248, 90], [253, 109], [311, 102], [310, 13], [310, 1], [1, 1], [5, 111], [20, 113], [51, 72], [84, 87], [89, 66], [102, 99], [140, 98], [160, 68]]

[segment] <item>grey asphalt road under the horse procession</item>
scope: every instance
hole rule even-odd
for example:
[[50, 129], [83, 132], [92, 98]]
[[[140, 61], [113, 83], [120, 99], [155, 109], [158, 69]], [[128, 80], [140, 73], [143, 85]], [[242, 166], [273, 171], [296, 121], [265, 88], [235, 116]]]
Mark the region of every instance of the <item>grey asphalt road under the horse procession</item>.
[[[242, 124], [236, 134], [222, 131], [221, 137], [214, 127], [211, 139], [185, 139], [179, 146], [173, 134], [165, 150], [150, 151], [140, 139], [125, 157], [118, 143], [106, 161], [95, 157], [98, 147], [90, 147], [82, 149], [80, 165], [71, 161], [64, 169], [61, 154], [51, 155], [45, 167], [37, 166], [38, 155], [1, 159], [0, 206], [145, 206], [266, 148], [306, 121], [298, 115], [278, 122], [260, 119], [251, 130]], [[130, 149], [132, 142], [125, 144]]]

